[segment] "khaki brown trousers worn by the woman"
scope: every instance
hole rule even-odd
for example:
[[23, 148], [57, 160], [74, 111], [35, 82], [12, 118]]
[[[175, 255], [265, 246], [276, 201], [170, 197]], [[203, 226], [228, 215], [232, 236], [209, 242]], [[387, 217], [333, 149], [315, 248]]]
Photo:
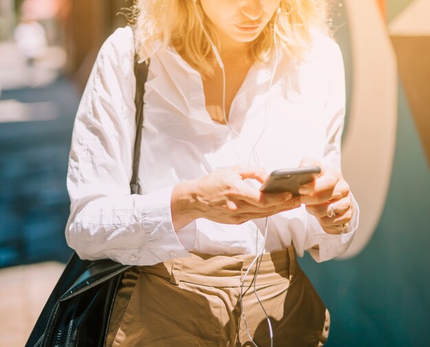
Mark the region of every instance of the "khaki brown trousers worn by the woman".
[[[271, 346], [253, 287], [252, 255], [193, 253], [133, 267], [114, 302], [106, 346]], [[241, 317], [240, 286], [244, 283]], [[256, 292], [270, 317], [273, 346], [322, 346], [330, 315], [299, 268], [293, 247], [264, 254]]]

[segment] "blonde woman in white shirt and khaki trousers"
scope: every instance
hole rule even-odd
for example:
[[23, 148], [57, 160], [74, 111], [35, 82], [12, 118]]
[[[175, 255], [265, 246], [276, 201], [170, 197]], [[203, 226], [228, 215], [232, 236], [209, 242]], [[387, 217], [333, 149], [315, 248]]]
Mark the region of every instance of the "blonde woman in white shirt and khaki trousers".
[[[73, 130], [66, 235], [82, 259], [137, 265], [106, 346], [326, 341], [328, 311], [295, 256], [338, 256], [358, 224], [326, 12], [316, 0], [140, 0], [134, 38], [126, 27], [104, 43]], [[150, 59], [139, 195], [135, 51]], [[321, 173], [299, 196], [260, 192], [267, 172], [309, 165]]]

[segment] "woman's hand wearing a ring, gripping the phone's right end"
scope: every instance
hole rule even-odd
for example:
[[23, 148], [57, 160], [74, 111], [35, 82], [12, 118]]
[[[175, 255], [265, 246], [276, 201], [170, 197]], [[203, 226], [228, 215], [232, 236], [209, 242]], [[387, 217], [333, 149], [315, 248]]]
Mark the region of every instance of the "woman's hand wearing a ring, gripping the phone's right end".
[[[317, 165], [321, 173], [313, 182], [299, 189], [300, 200], [306, 204], [306, 211], [317, 217], [319, 224], [330, 234], [343, 232], [352, 219], [352, 202], [349, 197], [350, 186], [342, 173], [335, 167], [321, 165], [317, 160], [305, 158], [300, 167]], [[330, 228], [339, 226], [339, 228]]]

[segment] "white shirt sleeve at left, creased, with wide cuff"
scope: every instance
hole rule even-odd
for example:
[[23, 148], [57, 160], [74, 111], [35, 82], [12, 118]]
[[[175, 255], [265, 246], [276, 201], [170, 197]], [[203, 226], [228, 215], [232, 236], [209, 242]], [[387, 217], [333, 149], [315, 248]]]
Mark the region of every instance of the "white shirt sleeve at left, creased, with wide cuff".
[[189, 253], [172, 225], [172, 187], [131, 195], [134, 52], [131, 28], [117, 29], [91, 71], [73, 126], [65, 234], [82, 259], [153, 265]]

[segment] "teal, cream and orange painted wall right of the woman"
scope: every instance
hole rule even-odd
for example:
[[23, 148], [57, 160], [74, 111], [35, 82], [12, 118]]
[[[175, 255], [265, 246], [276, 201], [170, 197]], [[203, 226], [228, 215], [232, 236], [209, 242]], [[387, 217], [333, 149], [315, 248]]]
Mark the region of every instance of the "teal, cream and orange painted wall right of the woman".
[[300, 263], [331, 313], [326, 346], [428, 346], [430, 0], [342, 3], [342, 161], [360, 225], [341, 259]]

